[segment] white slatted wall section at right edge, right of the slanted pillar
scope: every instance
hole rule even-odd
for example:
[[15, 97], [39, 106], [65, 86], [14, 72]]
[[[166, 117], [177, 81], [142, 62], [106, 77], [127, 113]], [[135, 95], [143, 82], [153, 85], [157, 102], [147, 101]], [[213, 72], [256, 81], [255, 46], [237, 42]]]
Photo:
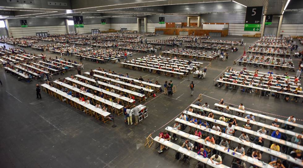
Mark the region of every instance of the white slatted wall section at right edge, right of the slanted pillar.
[[281, 24], [280, 34], [283, 36], [303, 36], [303, 24]]

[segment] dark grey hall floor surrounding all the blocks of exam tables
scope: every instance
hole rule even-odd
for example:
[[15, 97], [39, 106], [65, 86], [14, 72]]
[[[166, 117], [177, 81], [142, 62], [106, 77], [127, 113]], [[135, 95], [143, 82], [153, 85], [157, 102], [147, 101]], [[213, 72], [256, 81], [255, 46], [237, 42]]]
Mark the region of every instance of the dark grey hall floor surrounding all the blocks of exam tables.
[[[166, 39], [167, 37], [169, 36], [160, 35], [148, 39]], [[242, 38], [246, 42], [246, 48], [258, 40], [258, 38], [241, 36], [211, 39], [239, 41]], [[227, 66], [242, 68], [233, 65], [233, 61], [243, 53], [244, 48], [240, 46], [238, 48], [239, 52], [229, 53], [228, 61], [211, 61], [211, 67], [207, 67], [206, 78], [201, 80], [190, 75], [190, 81], [194, 81], [195, 84], [194, 96], [190, 96], [190, 82], [186, 78], [169, 78], [123, 69], [117, 64], [97, 64], [84, 60], [83, 62], [87, 65], [84, 66], [82, 72], [101, 67], [123, 74], [129, 73], [130, 76], [136, 78], [142, 76], [143, 79], [150, 79], [153, 82], [157, 80], [164, 83], [164, 81], [173, 80], [174, 85], [177, 86], [177, 92], [171, 97], [162, 92], [157, 93], [156, 98], [149, 98], [143, 102], [142, 104], [148, 107], [148, 117], [138, 125], [126, 125], [122, 115], [115, 115], [116, 128], [111, 127], [112, 122], [104, 124], [45, 92], [41, 92], [41, 100], [36, 99], [35, 84], [38, 81], [27, 84], [0, 69], [3, 83], [0, 87], [0, 167], [195, 167], [197, 162], [194, 160], [191, 160], [188, 166], [187, 163], [174, 159], [174, 152], [171, 149], [159, 154], [158, 149], [154, 149], [154, 145], [148, 149], [144, 147], [144, 144], [145, 138], [150, 133], [154, 132], [152, 136], [155, 137], [160, 130], [164, 130], [165, 127], [162, 126], [172, 125], [172, 120], [187, 109], [200, 93], [203, 94], [202, 103], [208, 102], [211, 108], [214, 108], [213, 104], [223, 98], [226, 103], [234, 105], [243, 103], [251, 111], [281, 119], [286, 119], [286, 116], [292, 114], [298, 119], [297, 123], [302, 124], [302, 104], [299, 102], [286, 103], [282, 99], [274, 99], [271, 96], [260, 97], [242, 93], [240, 90], [230, 91], [213, 86], [213, 79]], [[25, 50], [36, 54], [41, 53], [32, 49], [25, 48]], [[46, 54], [48, 57], [49, 55], [59, 57], [48, 52]], [[134, 57], [138, 57], [137, 54], [134, 54]], [[79, 61], [75, 57], [69, 58]], [[293, 61], [297, 67], [299, 60]], [[209, 61], [203, 62], [206, 66]], [[284, 73], [284, 71], [272, 70], [276, 73]], [[268, 69], [260, 69], [260, 71], [267, 72]], [[65, 75], [57, 75], [53, 78], [63, 78], [75, 73], [76, 70], [71, 70]], [[297, 128], [295, 130], [302, 131]], [[236, 135], [239, 136], [240, 132]], [[228, 158], [232, 157], [225, 158], [223, 163], [230, 166], [231, 159]], [[267, 162], [266, 154], [262, 161]]]

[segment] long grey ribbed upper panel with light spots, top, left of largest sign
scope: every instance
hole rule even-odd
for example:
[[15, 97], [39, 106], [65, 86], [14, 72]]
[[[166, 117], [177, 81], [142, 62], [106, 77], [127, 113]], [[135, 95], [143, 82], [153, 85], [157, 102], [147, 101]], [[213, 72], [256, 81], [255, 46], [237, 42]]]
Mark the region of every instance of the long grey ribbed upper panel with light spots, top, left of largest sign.
[[246, 7], [235, 2], [194, 3], [165, 6], [165, 13], [205, 13], [246, 11]]

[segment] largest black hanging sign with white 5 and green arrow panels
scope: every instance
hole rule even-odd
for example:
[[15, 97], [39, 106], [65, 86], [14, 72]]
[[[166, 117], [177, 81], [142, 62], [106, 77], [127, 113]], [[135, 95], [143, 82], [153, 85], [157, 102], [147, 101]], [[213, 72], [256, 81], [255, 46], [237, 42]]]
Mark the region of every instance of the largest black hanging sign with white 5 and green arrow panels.
[[246, 8], [244, 31], [260, 31], [263, 6]]

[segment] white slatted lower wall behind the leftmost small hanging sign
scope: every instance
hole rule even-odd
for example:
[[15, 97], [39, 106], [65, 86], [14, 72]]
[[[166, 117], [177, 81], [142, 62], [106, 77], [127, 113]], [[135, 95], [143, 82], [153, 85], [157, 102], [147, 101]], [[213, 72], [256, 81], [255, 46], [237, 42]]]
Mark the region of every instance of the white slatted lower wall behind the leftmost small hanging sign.
[[35, 36], [38, 32], [47, 32], [48, 34], [66, 34], [65, 25], [62, 26], [29, 26], [29, 27], [10, 27], [10, 32], [14, 38], [23, 36]]

